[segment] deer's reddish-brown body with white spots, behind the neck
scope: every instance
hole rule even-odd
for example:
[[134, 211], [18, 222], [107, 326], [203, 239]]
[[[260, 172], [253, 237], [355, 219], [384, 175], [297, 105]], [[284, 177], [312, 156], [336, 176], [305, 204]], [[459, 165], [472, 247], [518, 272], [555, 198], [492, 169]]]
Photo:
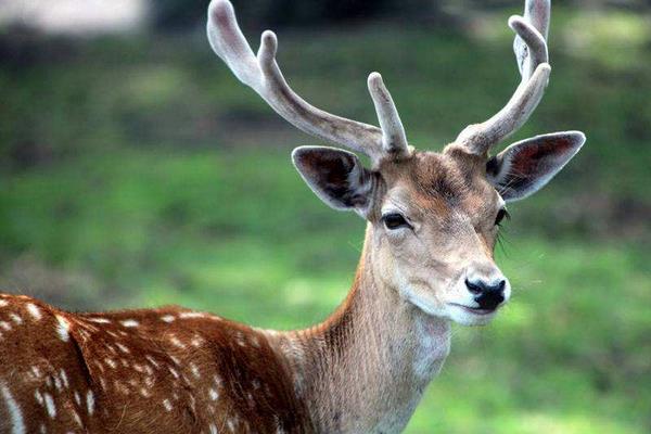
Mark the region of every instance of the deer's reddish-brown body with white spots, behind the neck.
[[[11, 327], [0, 379], [27, 433], [305, 432], [291, 373], [263, 332], [176, 307], [69, 314], [29, 297], [0, 301], [0, 326]], [[3, 433], [7, 412], [0, 406]]]

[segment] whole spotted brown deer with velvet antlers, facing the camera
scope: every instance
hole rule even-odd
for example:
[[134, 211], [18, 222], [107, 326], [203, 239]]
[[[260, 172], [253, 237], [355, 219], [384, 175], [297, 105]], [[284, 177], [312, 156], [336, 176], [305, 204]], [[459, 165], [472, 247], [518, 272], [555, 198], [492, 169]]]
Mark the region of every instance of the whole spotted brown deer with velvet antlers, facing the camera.
[[323, 322], [295, 331], [174, 306], [69, 312], [1, 295], [0, 431], [401, 432], [449, 354], [451, 324], [487, 324], [510, 299], [494, 258], [507, 203], [542, 188], [586, 140], [554, 132], [490, 155], [542, 98], [549, 17], [548, 0], [526, 0], [509, 20], [520, 85], [434, 152], [409, 144], [380, 74], [368, 78], [379, 127], [327, 113], [290, 88], [272, 31], [254, 54], [232, 4], [213, 0], [208, 40], [237, 78], [290, 124], [353, 151], [292, 153], [319, 199], [367, 221], [352, 289]]

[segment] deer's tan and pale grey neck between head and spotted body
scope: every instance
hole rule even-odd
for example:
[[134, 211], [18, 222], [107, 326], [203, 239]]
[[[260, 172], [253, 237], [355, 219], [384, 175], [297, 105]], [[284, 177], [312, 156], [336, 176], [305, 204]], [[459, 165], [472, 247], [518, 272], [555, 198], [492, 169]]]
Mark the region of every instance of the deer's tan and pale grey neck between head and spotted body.
[[382, 283], [370, 239], [346, 301], [280, 342], [316, 432], [400, 432], [449, 353], [449, 322]]

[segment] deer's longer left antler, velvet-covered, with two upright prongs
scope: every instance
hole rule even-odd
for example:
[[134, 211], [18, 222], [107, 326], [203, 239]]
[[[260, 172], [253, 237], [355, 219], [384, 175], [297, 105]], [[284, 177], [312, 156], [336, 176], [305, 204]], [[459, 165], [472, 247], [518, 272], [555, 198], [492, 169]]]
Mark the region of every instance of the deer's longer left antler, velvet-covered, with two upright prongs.
[[238, 26], [230, 1], [212, 1], [207, 34], [215, 53], [240, 81], [255, 90], [271, 108], [298, 129], [363, 153], [374, 161], [387, 154], [394, 157], [409, 154], [400, 117], [380, 74], [369, 76], [369, 91], [381, 126], [378, 128], [332, 115], [298, 97], [285, 81], [276, 62], [276, 35], [270, 30], [263, 33], [256, 58]]

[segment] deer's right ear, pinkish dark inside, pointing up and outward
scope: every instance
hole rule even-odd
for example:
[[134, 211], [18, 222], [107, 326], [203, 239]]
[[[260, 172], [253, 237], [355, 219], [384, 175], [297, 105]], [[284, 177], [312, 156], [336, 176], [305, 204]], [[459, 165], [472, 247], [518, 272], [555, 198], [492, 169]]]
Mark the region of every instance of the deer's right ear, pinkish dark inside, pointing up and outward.
[[578, 131], [523, 140], [492, 157], [486, 165], [486, 176], [505, 201], [519, 201], [545, 187], [585, 141], [585, 135]]

